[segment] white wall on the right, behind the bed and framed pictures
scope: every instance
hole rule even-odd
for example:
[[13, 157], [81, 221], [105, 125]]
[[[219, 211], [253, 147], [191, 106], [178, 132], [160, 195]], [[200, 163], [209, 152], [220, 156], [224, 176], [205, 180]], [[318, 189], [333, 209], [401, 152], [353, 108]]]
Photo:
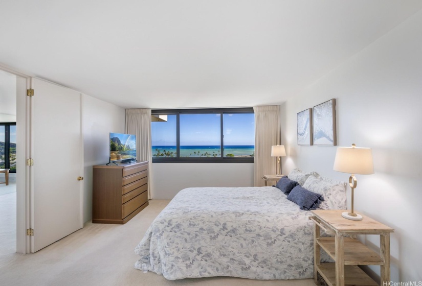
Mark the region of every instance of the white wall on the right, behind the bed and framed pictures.
[[[337, 100], [338, 146], [372, 148], [375, 174], [357, 175], [354, 204], [358, 213], [395, 229], [390, 244], [395, 282], [422, 277], [421, 51], [418, 12], [281, 107], [283, 170], [297, 167], [348, 180], [348, 174], [332, 170], [336, 147], [297, 146], [297, 112], [332, 98]], [[365, 242], [379, 248], [377, 236]], [[379, 275], [379, 267], [367, 271]]]

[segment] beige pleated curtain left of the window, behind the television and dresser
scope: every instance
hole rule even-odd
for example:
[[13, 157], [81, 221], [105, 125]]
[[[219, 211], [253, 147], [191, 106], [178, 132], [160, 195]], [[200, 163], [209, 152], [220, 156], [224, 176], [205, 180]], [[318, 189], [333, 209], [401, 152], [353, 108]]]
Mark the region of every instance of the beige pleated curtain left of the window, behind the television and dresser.
[[126, 109], [125, 133], [136, 135], [137, 160], [149, 161], [148, 199], [152, 199], [151, 109]]

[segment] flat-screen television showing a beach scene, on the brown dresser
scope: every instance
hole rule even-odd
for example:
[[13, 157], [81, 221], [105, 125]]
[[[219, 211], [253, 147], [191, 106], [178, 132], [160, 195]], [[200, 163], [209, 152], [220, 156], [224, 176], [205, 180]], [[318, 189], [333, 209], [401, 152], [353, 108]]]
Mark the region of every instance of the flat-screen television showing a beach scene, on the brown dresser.
[[136, 158], [136, 135], [110, 133], [110, 162]]

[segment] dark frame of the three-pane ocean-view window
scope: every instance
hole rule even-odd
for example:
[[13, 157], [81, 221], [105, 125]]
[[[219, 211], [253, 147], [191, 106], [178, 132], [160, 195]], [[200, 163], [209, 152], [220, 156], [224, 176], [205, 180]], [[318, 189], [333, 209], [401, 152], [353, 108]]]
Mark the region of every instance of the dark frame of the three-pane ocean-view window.
[[[254, 113], [253, 107], [201, 108], [201, 109], [152, 109], [152, 115], [176, 115], [176, 157], [152, 157], [152, 163], [253, 163], [254, 157], [224, 157], [223, 114]], [[180, 115], [220, 114], [220, 157], [180, 157]], [[151, 146], [152, 147], [152, 146]]]

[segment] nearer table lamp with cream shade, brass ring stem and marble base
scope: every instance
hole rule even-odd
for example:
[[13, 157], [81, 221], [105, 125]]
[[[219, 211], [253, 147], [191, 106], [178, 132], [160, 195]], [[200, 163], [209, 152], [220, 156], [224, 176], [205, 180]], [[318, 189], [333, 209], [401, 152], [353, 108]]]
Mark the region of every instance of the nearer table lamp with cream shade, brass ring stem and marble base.
[[352, 144], [351, 147], [338, 147], [336, 159], [334, 160], [334, 170], [343, 173], [349, 173], [349, 185], [351, 188], [351, 210], [343, 212], [343, 218], [353, 221], [362, 220], [362, 216], [353, 212], [353, 191], [356, 188], [358, 180], [354, 174], [369, 175], [373, 174], [372, 149], [357, 148]]

